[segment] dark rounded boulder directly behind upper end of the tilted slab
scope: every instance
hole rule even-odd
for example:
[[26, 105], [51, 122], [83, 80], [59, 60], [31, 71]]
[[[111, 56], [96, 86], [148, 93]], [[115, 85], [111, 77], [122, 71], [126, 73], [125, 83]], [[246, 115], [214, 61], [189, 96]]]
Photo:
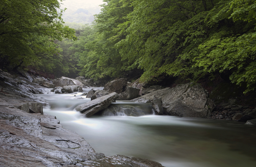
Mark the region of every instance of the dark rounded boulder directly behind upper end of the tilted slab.
[[109, 93], [116, 92], [121, 93], [124, 91], [124, 87], [127, 85], [126, 79], [118, 79], [105, 84], [104, 89]]

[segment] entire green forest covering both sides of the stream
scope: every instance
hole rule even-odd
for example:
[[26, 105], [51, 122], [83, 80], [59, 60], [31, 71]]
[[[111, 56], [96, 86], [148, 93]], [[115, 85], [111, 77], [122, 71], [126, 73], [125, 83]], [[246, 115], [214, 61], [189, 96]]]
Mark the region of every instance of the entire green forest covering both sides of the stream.
[[103, 2], [93, 24], [72, 29], [58, 0], [1, 0], [1, 69], [94, 79], [140, 69], [141, 82], [225, 73], [245, 92], [256, 88], [255, 0]]

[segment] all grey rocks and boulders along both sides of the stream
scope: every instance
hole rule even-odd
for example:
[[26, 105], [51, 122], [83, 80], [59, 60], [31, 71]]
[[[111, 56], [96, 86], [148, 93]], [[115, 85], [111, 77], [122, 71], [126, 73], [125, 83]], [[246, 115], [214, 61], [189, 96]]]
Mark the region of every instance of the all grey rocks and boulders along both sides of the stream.
[[[48, 106], [48, 102], [34, 96], [47, 93], [45, 88], [63, 94], [82, 92], [82, 87], [96, 85], [93, 80], [84, 77], [51, 80], [34, 77], [24, 71], [18, 74], [0, 71], [0, 166], [162, 167], [160, 163], [148, 159], [123, 155], [105, 157], [103, 153], [96, 153], [84, 138], [63, 128], [58, 118], [44, 114], [43, 106]], [[254, 108], [234, 105], [232, 101], [225, 106], [216, 106], [199, 84], [145, 89], [128, 83], [126, 79], [118, 79], [106, 84], [103, 90], [91, 90], [87, 96], [92, 101], [76, 108], [87, 117], [97, 112], [129, 115], [127, 110], [119, 113], [122, 110], [116, 108], [121, 106], [111, 103], [118, 98], [133, 98], [134, 102], [151, 102], [154, 114], [256, 124]], [[131, 116], [145, 114], [132, 111]]]

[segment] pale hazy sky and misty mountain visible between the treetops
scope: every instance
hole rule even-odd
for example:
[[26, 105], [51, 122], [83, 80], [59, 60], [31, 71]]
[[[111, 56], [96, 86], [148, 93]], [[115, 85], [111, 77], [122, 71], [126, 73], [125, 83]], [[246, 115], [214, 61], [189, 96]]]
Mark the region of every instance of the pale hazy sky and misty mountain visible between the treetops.
[[104, 4], [102, 0], [64, 0], [61, 3], [62, 9], [67, 8], [62, 16], [64, 22], [78, 24], [91, 24], [93, 15], [101, 12], [99, 5]]

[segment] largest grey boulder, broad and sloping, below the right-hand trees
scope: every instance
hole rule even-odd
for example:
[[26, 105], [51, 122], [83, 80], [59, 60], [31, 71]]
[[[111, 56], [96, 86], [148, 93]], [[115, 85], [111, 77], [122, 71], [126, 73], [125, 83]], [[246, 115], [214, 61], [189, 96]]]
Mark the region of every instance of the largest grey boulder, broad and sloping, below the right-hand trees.
[[215, 107], [208, 92], [199, 84], [179, 84], [135, 98], [135, 102], [151, 102], [162, 98], [166, 114], [180, 117], [210, 118]]

